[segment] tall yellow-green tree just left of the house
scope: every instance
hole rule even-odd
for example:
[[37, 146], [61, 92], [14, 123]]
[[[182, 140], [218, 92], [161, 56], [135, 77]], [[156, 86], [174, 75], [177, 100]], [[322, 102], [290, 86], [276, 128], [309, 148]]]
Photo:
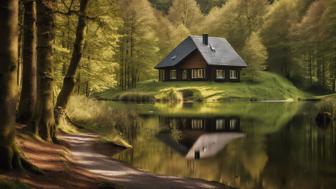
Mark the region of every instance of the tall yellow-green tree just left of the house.
[[119, 8], [123, 26], [119, 29], [122, 37], [115, 57], [119, 63], [119, 85], [128, 89], [135, 87], [139, 80], [156, 76], [154, 65], [159, 61], [157, 20], [146, 0], [120, 1]]

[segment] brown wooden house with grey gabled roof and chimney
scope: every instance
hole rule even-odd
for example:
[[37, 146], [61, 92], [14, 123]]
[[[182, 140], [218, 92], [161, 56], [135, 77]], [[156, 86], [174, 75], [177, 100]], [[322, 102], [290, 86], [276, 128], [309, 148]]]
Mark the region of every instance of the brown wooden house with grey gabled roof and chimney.
[[247, 65], [220, 37], [189, 36], [155, 66], [160, 81], [240, 81]]

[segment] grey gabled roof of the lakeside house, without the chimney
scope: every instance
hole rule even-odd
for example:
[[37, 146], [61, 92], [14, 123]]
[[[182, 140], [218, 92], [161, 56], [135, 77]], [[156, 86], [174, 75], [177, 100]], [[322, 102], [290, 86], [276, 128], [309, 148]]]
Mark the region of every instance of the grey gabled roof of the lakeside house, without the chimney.
[[201, 53], [208, 65], [247, 66], [226, 39], [209, 37], [209, 45], [204, 45], [202, 36], [189, 36], [156, 65], [155, 68], [175, 66], [196, 49]]

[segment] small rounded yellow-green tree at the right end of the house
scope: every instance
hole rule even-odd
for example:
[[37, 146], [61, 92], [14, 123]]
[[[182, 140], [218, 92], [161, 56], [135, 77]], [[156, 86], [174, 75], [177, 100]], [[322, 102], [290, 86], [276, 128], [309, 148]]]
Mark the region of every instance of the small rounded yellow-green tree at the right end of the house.
[[252, 33], [247, 39], [241, 55], [248, 65], [243, 72], [249, 80], [256, 81], [258, 79], [258, 71], [265, 69], [267, 59], [267, 49], [262, 44], [261, 38], [257, 33]]

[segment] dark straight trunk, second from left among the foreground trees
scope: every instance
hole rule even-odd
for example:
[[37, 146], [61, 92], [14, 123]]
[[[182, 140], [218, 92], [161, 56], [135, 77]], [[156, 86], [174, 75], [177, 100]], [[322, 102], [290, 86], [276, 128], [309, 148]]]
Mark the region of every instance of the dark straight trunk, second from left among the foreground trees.
[[23, 21], [23, 76], [17, 120], [31, 121], [36, 104], [36, 10], [35, 2], [24, 1]]

